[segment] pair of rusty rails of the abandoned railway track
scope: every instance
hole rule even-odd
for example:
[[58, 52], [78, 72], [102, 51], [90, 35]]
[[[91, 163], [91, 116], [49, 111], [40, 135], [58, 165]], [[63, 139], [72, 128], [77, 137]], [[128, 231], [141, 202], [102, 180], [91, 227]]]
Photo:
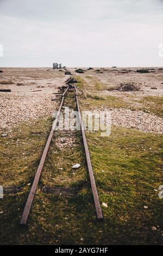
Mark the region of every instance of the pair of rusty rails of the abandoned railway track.
[[75, 99], [76, 99], [77, 110], [78, 110], [79, 121], [80, 121], [80, 131], [82, 133], [82, 139], [83, 139], [83, 145], [84, 145], [84, 151], [85, 151], [85, 157], [86, 157], [86, 167], [87, 167], [87, 170], [89, 172], [91, 190], [92, 190], [93, 200], [94, 200], [95, 209], [96, 209], [96, 217], [97, 217], [97, 220], [103, 220], [103, 214], [102, 214], [101, 205], [99, 203], [95, 176], [93, 174], [91, 158], [90, 158], [89, 149], [88, 149], [88, 146], [87, 146], [87, 141], [86, 141], [86, 136], [85, 136], [85, 131], [84, 131], [82, 115], [81, 115], [81, 112], [80, 112], [77, 87], [75, 85], [72, 86], [72, 84], [68, 84], [68, 86], [65, 89], [64, 93], [62, 93], [60, 95], [61, 96], [60, 106], [59, 106], [57, 115], [55, 117], [55, 120], [53, 122], [53, 126], [52, 126], [52, 129], [51, 129], [51, 132], [49, 133], [49, 137], [47, 139], [47, 142], [46, 142], [46, 145], [45, 145], [45, 149], [43, 150], [43, 153], [42, 153], [42, 156], [41, 156], [41, 160], [40, 160], [39, 166], [37, 168], [37, 171], [36, 171], [36, 174], [35, 174], [35, 178], [34, 178], [32, 187], [31, 187], [30, 192], [28, 194], [26, 205], [25, 205], [24, 210], [23, 210], [23, 214], [22, 214], [21, 221], [20, 221], [20, 224], [22, 224], [22, 225], [26, 225], [27, 224], [28, 217], [29, 217], [29, 214], [30, 214], [30, 209], [32, 208], [35, 192], [36, 192], [36, 189], [37, 189], [37, 185], [39, 184], [41, 172], [42, 172], [42, 169], [43, 169], [43, 166], [44, 166], [47, 154], [48, 154], [48, 150], [50, 150], [51, 141], [52, 141], [52, 138], [53, 138], [53, 135], [54, 135], [57, 123], [59, 121], [59, 115], [60, 115], [61, 109], [62, 109], [62, 107], [64, 105], [64, 100], [65, 100], [66, 94], [67, 94], [68, 90], [70, 90], [70, 89], [74, 90], [74, 95], [75, 95]]

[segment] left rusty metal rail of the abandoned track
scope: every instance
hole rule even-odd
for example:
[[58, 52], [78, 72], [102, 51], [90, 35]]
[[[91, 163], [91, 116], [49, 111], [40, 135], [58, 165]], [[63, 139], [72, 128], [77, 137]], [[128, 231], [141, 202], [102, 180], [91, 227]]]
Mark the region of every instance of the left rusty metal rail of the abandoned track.
[[52, 138], [53, 138], [53, 133], [54, 133], [55, 127], [58, 123], [59, 114], [60, 114], [60, 111], [61, 111], [61, 107], [64, 103], [65, 94], [66, 94], [68, 88], [69, 87], [67, 87], [65, 92], [62, 94], [61, 103], [60, 103], [56, 118], [53, 122], [52, 130], [51, 130], [51, 133], [49, 134], [45, 149], [43, 150], [43, 154], [42, 154], [42, 157], [41, 157], [41, 160], [40, 160], [40, 164], [39, 164], [39, 167], [37, 168], [37, 172], [36, 172], [36, 175], [35, 175], [35, 178], [34, 178], [34, 181], [33, 181], [33, 185], [32, 185], [32, 187], [30, 189], [30, 192], [29, 192], [29, 196], [28, 196], [27, 203], [26, 203], [26, 206], [25, 206], [24, 211], [23, 211], [23, 215], [22, 215], [20, 224], [25, 225], [27, 223], [30, 208], [32, 206], [33, 199], [34, 199], [34, 194], [36, 192], [36, 188], [37, 188], [37, 185], [38, 185], [38, 182], [39, 182], [39, 179], [40, 179], [40, 175], [41, 175], [41, 172], [42, 172], [43, 164], [45, 163], [45, 160], [46, 160], [49, 145], [51, 144], [51, 141], [52, 141]]

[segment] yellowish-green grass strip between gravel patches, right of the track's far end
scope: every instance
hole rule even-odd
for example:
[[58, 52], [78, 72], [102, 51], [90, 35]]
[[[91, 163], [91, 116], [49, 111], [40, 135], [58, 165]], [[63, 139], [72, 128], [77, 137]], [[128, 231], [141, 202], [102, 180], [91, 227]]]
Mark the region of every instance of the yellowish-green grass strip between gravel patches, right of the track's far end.
[[[163, 116], [163, 97], [145, 96], [142, 100], [137, 101], [143, 104], [141, 107], [134, 106], [131, 102], [123, 101], [122, 97], [104, 95], [102, 90], [105, 89], [105, 85], [97, 81], [95, 77], [87, 76], [87, 78], [91, 79], [91, 84], [86, 83], [82, 77], [77, 77], [79, 92], [82, 93], [79, 95], [79, 99], [83, 107], [86, 104], [87, 109], [96, 107], [127, 108], [133, 111], [141, 110], [146, 113], [152, 113], [159, 117]], [[128, 97], [133, 102], [136, 101], [134, 96], [128, 95]]]

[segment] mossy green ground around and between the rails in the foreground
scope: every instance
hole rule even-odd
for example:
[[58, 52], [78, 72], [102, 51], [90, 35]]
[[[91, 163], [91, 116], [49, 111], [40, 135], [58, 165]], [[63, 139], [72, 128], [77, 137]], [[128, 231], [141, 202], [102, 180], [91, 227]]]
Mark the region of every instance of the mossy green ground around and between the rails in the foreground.
[[[82, 86], [78, 83], [81, 92]], [[80, 106], [87, 109], [81, 92]], [[90, 100], [97, 104], [99, 101]], [[71, 93], [68, 93], [65, 104], [76, 108]], [[102, 206], [104, 221], [96, 220], [80, 132], [57, 131], [28, 225], [20, 227], [23, 207], [51, 125], [51, 118], [32, 120], [15, 127], [8, 137], [0, 138], [0, 185], [23, 186], [21, 192], [0, 199], [0, 243], [162, 244], [163, 201], [158, 197], [158, 187], [162, 185], [162, 135], [116, 126], [111, 127], [109, 137], [101, 137], [100, 131], [86, 132], [99, 200], [108, 205], [108, 208]], [[65, 143], [59, 147], [61, 138]], [[75, 163], [80, 163], [81, 167], [73, 171]], [[78, 187], [80, 190], [75, 196], [65, 197], [43, 192], [45, 185]], [[144, 209], [144, 206], [148, 208]]]

